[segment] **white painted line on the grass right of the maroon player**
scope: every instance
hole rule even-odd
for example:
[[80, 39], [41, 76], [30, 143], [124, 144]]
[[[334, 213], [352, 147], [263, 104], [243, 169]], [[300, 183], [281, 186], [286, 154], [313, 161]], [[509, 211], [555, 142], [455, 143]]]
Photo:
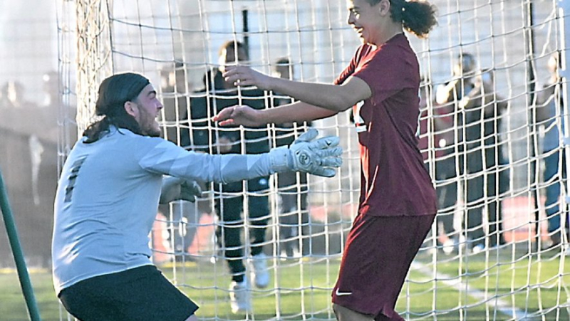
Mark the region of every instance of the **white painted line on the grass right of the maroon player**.
[[[420, 271], [420, 273], [423, 273], [425, 275], [433, 275], [432, 270], [430, 268], [427, 268], [427, 266], [423, 265], [422, 263], [414, 261], [412, 263], [412, 268], [414, 270]], [[455, 288], [455, 290], [461, 293], [467, 293], [467, 295], [473, 298], [477, 298], [478, 300], [488, 300], [485, 302], [486, 305], [497, 309], [504, 315], [507, 315], [509, 317], [509, 320], [524, 320], [527, 318], [527, 313], [519, 310], [517, 307], [513, 307], [506, 300], [503, 300], [501, 298], [494, 298], [493, 300], [489, 300], [489, 297], [485, 295], [482, 290], [473, 288], [469, 284], [460, 281], [459, 278], [452, 278], [450, 275], [439, 272], [435, 273], [435, 278], [437, 278], [437, 282], [449, 285], [450, 287]]]

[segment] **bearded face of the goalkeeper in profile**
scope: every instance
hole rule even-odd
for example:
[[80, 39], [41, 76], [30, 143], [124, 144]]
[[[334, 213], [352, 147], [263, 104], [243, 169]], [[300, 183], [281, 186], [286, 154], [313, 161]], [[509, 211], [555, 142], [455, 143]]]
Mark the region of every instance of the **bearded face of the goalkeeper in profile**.
[[142, 135], [160, 137], [160, 126], [156, 117], [162, 110], [162, 102], [156, 97], [156, 90], [152, 85], [146, 85], [133, 101], [133, 117], [138, 122]]

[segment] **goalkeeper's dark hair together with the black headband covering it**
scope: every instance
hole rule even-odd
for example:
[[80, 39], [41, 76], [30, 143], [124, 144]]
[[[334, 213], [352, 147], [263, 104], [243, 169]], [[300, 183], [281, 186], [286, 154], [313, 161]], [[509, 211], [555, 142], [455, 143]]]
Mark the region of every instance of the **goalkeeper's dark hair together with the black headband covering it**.
[[99, 85], [98, 98], [95, 103], [95, 115], [103, 116], [89, 125], [83, 136], [86, 143], [96, 142], [109, 132], [111, 126], [125, 128], [135, 134], [142, 135], [137, 120], [125, 110], [125, 102], [136, 102], [143, 88], [150, 81], [138, 73], [120, 73], [103, 80]]

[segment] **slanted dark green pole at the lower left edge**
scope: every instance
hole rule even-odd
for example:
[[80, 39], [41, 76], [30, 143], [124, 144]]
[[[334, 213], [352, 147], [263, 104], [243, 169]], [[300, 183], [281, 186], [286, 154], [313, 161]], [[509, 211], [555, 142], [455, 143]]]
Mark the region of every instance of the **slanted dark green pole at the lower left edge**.
[[24, 293], [24, 298], [26, 299], [30, 319], [32, 321], [40, 321], [40, 312], [38, 310], [38, 305], [36, 304], [36, 298], [33, 295], [30, 275], [28, 275], [28, 269], [26, 268], [24, 252], [20, 245], [18, 230], [16, 229], [16, 223], [14, 223], [14, 216], [12, 216], [5, 186], [4, 179], [2, 178], [2, 172], [0, 170], [0, 209], [2, 211], [2, 216], [4, 217], [4, 224], [6, 225], [6, 233], [8, 233], [8, 240], [12, 248], [12, 253], [14, 254], [14, 261], [16, 261], [16, 269], [18, 270], [20, 285], [22, 292]]

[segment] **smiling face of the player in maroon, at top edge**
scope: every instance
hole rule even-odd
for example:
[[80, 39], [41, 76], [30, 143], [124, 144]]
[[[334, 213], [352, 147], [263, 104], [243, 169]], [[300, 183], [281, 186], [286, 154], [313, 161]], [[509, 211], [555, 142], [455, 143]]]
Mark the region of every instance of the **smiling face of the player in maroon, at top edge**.
[[380, 2], [371, 6], [366, 0], [346, 1], [348, 24], [358, 33], [363, 43], [377, 43], [380, 28]]

